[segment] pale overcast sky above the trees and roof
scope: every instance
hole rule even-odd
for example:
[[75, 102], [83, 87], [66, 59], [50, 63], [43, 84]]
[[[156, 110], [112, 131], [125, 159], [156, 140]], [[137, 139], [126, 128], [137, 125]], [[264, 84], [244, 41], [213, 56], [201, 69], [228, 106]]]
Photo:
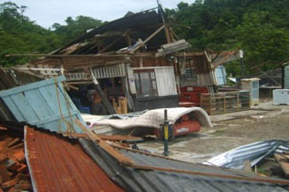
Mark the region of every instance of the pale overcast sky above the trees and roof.
[[[0, 0], [0, 2], [3, 0]], [[5, 1], [5, 0], [4, 0]], [[8, 0], [7, 0], [8, 1]], [[65, 24], [68, 16], [90, 16], [103, 21], [123, 17], [128, 11], [140, 12], [157, 6], [156, 0], [10, 0], [18, 6], [26, 5], [24, 13], [37, 24], [48, 28], [53, 23]], [[194, 0], [161, 0], [165, 8], [176, 8], [180, 2]]]

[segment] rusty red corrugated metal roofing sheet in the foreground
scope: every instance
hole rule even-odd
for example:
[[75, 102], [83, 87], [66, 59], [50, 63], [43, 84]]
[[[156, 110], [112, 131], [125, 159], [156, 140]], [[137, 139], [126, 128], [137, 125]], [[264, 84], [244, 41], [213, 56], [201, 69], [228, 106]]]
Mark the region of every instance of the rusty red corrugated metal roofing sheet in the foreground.
[[25, 153], [34, 191], [124, 191], [77, 140], [26, 127]]

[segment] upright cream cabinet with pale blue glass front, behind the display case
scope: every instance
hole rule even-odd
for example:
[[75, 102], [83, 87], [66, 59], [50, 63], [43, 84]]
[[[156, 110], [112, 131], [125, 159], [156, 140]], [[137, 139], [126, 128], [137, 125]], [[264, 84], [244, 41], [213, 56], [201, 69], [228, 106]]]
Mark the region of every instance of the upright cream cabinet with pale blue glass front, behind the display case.
[[259, 104], [259, 78], [241, 79], [242, 90], [250, 91], [251, 106]]

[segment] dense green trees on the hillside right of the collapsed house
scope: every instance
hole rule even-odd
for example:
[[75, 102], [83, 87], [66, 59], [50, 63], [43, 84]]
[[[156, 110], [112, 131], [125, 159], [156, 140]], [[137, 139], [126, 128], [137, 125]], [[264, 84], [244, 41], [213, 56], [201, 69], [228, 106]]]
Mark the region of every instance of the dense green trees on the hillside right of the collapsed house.
[[[193, 51], [243, 49], [247, 74], [288, 61], [289, 0], [196, 0], [166, 13]], [[239, 62], [226, 67], [240, 75]]]

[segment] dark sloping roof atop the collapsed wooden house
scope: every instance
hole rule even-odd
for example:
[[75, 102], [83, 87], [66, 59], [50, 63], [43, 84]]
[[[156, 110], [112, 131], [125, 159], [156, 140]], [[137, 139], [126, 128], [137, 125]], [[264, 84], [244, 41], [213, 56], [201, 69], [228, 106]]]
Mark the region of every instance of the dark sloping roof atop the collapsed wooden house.
[[[134, 44], [138, 38], [145, 40], [154, 31], [160, 28], [162, 24], [163, 22], [161, 15], [154, 10], [132, 14], [114, 20], [112, 22], [108, 22], [107, 24], [104, 24], [102, 26], [99, 26], [98, 28], [82, 35], [81, 37], [71, 42], [70, 44], [66, 45], [62, 49], [58, 50], [54, 54], [59, 54], [62, 50], [73, 44], [91, 41], [95, 37], [95, 35], [107, 32], [129, 31], [129, 33], [131, 34], [132, 44]], [[117, 38], [118, 37], [106, 38], [104, 39], [105, 44], [108, 45]], [[149, 42], [146, 43], [147, 51], [156, 51], [157, 49], [160, 48], [160, 45], [165, 43], [166, 43], [165, 33], [164, 31], [161, 31], [160, 33], [158, 33], [158, 35], [156, 35], [155, 37], [153, 37], [153, 39], [151, 39]], [[81, 50], [78, 50], [73, 54], [96, 54], [97, 53], [96, 49], [90, 49], [92, 46], [93, 45], [89, 43], [86, 47], [82, 48]], [[113, 47], [111, 47], [110, 50], [108, 51], [116, 51], [124, 47], [127, 47], [127, 42], [123, 38]]]

